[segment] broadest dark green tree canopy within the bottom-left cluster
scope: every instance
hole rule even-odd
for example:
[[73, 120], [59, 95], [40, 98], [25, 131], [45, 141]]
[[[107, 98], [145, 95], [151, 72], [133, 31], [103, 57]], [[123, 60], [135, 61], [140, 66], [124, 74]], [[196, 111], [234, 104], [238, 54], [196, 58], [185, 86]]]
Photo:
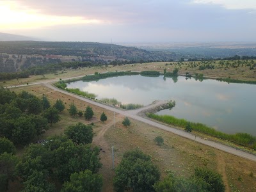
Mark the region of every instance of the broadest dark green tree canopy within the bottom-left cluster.
[[57, 179], [63, 184], [70, 181], [72, 173], [99, 172], [100, 150], [97, 147], [76, 145], [65, 136], [48, 138], [42, 144], [29, 145], [17, 164], [18, 176], [26, 188], [53, 189], [49, 180]]

